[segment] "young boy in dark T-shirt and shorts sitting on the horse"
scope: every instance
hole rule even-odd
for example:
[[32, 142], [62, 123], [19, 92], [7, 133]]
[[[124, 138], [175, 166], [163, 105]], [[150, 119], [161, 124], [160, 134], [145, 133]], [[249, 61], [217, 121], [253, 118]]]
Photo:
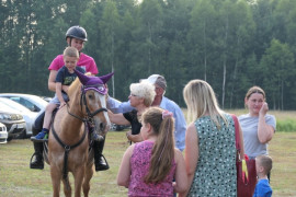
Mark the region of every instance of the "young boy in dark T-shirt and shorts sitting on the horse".
[[78, 59], [79, 53], [75, 47], [67, 47], [64, 50], [65, 66], [61, 67], [57, 73], [55, 97], [46, 106], [42, 131], [39, 131], [37, 136], [31, 137], [32, 141], [44, 141], [47, 139], [54, 109], [57, 107], [64, 107], [66, 105], [66, 101], [69, 100], [67, 93], [61, 90], [61, 86], [70, 86], [70, 84], [75, 81], [77, 78], [75, 69], [82, 73], [86, 72], [81, 67], [77, 67]]

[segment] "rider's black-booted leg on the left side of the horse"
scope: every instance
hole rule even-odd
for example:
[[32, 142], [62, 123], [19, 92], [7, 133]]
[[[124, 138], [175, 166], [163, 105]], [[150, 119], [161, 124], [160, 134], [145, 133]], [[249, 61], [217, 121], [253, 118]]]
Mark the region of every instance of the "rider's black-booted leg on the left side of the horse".
[[[43, 118], [44, 113], [39, 114], [39, 116], [35, 119], [33, 126], [33, 135], [37, 135], [42, 130], [43, 126]], [[43, 161], [43, 143], [34, 142], [34, 155], [33, 160], [30, 163], [31, 169], [44, 169], [44, 161]]]

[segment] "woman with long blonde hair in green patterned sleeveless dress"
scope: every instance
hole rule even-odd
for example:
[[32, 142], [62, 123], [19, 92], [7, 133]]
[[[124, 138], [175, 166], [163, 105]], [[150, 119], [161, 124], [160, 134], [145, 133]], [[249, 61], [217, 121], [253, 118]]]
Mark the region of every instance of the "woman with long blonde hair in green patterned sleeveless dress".
[[[237, 196], [232, 116], [219, 108], [212, 86], [203, 80], [190, 81], [183, 96], [193, 121], [187, 127], [185, 142], [190, 187], [181, 196]], [[239, 134], [243, 144], [241, 129]], [[243, 158], [243, 147], [240, 153]]]

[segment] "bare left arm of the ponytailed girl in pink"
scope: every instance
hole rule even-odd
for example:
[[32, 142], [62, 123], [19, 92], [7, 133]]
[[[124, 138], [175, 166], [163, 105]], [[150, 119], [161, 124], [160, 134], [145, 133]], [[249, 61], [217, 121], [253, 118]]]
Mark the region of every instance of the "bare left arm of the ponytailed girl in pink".
[[129, 160], [132, 158], [133, 151], [134, 151], [135, 144], [128, 147], [128, 149], [125, 151], [122, 160], [122, 164], [119, 166], [119, 171], [117, 174], [117, 185], [128, 187], [129, 179], [130, 179], [130, 163]]

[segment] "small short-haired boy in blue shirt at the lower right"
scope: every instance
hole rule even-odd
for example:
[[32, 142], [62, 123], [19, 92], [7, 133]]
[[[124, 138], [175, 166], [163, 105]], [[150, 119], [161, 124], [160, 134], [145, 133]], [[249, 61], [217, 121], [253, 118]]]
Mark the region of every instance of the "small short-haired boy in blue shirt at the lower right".
[[267, 155], [255, 157], [255, 171], [258, 183], [255, 185], [253, 197], [271, 197], [272, 188], [269, 183], [267, 174], [272, 170], [272, 159]]

